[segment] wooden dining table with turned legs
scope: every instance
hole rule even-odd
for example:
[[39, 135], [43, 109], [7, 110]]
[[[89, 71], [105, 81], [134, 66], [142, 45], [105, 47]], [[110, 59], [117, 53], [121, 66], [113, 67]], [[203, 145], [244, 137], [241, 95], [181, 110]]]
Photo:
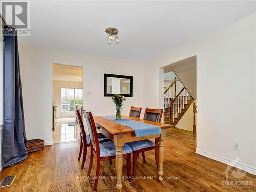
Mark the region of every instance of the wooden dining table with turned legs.
[[159, 145], [158, 145], [158, 156], [159, 156], [159, 165], [158, 165], [158, 179], [160, 181], [163, 180], [163, 156], [164, 156], [164, 138], [166, 137], [166, 129], [172, 128], [173, 125], [157, 123], [153, 121], [147, 121], [143, 119], [138, 119], [134, 117], [124, 116], [122, 115], [121, 118], [131, 119], [135, 121], [144, 122], [147, 124], [152, 124], [155, 126], [159, 126], [162, 130], [162, 133], [159, 135], [148, 135], [142, 137], [136, 137], [135, 132], [133, 129], [127, 126], [123, 126], [121, 124], [115, 123], [111, 120], [102, 118], [100, 116], [94, 117], [94, 122], [97, 127], [97, 131], [105, 135], [106, 137], [110, 138], [114, 141], [116, 146], [116, 189], [118, 191], [122, 191], [122, 169], [123, 169], [123, 145], [127, 142], [132, 141], [139, 141], [144, 139], [154, 139], [159, 138]]

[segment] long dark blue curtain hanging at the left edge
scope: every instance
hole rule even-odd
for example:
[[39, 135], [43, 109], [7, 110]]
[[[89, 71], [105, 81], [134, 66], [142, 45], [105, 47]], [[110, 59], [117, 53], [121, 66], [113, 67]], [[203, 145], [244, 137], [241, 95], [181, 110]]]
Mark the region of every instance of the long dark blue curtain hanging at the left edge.
[[4, 36], [4, 136], [2, 165], [12, 166], [28, 156], [16, 35]]

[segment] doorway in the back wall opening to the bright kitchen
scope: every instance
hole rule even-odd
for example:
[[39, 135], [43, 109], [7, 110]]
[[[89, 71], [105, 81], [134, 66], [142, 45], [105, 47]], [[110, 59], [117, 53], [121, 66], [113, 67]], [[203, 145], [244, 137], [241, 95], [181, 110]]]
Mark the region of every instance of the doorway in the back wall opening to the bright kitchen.
[[75, 109], [83, 106], [83, 67], [52, 64], [53, 143], [80, 140]]

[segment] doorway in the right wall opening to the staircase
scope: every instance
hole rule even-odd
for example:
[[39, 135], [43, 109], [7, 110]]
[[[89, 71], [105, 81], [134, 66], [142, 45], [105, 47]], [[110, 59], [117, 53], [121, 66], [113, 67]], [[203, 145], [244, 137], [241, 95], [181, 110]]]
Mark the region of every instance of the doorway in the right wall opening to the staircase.
[[196, 136], [196, 56], [163, 67], [164, 123]]

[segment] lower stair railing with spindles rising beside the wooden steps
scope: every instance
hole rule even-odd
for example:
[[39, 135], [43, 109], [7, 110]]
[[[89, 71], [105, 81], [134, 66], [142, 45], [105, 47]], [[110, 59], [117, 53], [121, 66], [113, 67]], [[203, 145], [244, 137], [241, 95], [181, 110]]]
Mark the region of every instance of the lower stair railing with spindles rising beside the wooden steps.
[[185, 104], [188, 104], [188, 100], [193, 100], [193, 97], [183, 87], [178, 95], [170, 101], [170, 122], [175, 122], [175, 118], [178, 118], [178, 114], [185, 108]]

